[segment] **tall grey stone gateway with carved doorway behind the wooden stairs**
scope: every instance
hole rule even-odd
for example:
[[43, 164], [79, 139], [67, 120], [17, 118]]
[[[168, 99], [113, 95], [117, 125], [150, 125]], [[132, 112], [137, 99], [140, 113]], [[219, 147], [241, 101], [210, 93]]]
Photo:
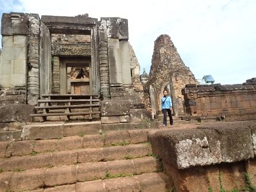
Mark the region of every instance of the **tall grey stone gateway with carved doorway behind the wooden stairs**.
[[140, 65], [128, 42], [127, 19], [3, 13], [1, 35], [3, 110], [9, 104], [35, 106], [42, 95], [82, 94], [101, 100], [104, 124], [145, 118]]

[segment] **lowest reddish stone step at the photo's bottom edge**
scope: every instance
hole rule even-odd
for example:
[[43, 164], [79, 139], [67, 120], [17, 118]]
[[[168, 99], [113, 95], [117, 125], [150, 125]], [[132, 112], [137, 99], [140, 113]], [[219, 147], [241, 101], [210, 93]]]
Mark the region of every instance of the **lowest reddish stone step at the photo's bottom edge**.
[[[132, 192], [166, 192], [168, 177], [163, 173], [143, 173], [134, 177], [120, 177], [116, 179], [93, 180], [77, 182], [76, 184], [56, 186], [54, 188], [37, 189], [37, 192], [96, 192], [96, 191], [132, 191]], [[33, 190], [34, 191], [34, 190]]]

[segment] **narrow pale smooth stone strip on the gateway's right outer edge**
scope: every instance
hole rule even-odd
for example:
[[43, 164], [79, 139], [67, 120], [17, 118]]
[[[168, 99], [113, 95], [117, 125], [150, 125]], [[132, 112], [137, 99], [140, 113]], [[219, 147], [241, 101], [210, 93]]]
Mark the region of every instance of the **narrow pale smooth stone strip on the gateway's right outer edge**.
[[121, 51], [121, 62], [122, 62], [122, 83], [124, 87], [131, 87], [131, 65], [130, 65], [130, 54], [129, 44], [127, 40], [119, 42]]

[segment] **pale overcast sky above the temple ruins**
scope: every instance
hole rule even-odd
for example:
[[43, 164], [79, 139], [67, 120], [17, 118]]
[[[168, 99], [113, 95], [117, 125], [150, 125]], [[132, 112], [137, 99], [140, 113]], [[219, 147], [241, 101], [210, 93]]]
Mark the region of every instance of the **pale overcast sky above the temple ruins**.
[[209, 74], [221, 84], [256, 77], [255, 0], [0, 0], [3, 12], [122, 17], [141, 73], [149, 73], [154, 41], [167, 34], [199, 81]]

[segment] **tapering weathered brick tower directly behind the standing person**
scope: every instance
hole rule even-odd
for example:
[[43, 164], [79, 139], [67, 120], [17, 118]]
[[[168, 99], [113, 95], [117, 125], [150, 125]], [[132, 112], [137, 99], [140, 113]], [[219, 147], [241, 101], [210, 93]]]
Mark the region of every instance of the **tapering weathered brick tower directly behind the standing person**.
[[170, 36], [160, 35], [155, 41], [152, 65], [145, 84], [147, 90], [151, 86], [154, 92], [155, 103], [151, 103], [152, 108], [156, 112], [161, 111], [160, 99], [163, 97], [163, 90], [167, 89], [172, 97], [175, 115], [184, 114], [181, 89], [188, 83], [198, 84], [191, 70], [184, 65]]

